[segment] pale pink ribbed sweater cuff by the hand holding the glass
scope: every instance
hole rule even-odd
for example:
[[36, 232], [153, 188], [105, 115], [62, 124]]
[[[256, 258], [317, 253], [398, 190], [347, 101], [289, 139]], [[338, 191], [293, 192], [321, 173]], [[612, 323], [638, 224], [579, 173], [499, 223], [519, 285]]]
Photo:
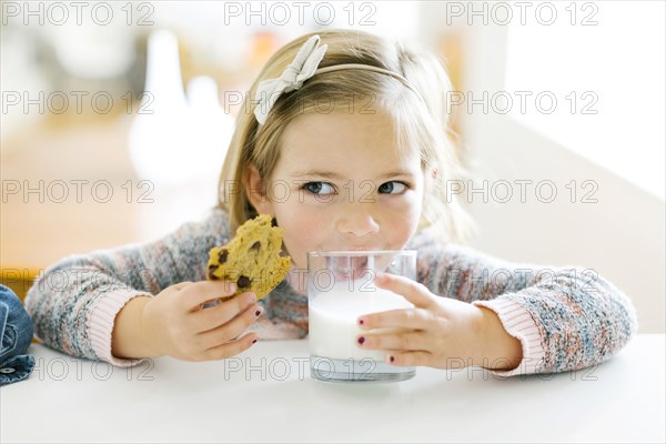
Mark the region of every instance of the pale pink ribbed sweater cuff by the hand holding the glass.
[[541, 334], [529, 312], [519, 303], [507, 297], [475, 301], [473, 304], [495, 312], [504, 330], [519, 340], [523, 346], [523, 360], [517, 367], [505, 371], [493, 370], [491, 372], [498, 376], [541, 373], [544, 367], [545, 352], [542, 346]]

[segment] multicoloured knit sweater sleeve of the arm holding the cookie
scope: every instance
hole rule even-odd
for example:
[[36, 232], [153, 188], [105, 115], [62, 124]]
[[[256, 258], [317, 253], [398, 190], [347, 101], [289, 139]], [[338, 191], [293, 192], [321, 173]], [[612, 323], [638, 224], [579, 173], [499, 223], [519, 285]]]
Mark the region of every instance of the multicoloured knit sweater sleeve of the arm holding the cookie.
[[111, 333], [120, 310], [133, 297], [205, 279], [209, 250], [229, 241], [226, 216], [213, 210], [163, 239], [90, 254], [72, 255], [47, 269], [30, 287], [26, 307], [36, 335], [77, 357], [132, 365], [111, 354]]

